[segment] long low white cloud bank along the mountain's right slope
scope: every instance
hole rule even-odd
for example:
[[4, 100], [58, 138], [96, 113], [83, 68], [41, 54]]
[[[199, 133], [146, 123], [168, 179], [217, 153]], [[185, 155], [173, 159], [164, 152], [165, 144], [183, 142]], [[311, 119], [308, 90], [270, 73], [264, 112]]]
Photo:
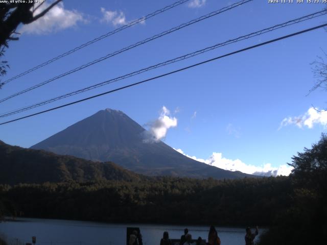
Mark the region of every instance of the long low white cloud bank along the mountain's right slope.
[[279, 167], [272, 167], [270, 163], [266, 163], [263, 166], [248, 165], [242, 162], [240, 159], [231, 160], [224, 158], [222, 153], [214, 152], [208, 159], [201, 159], [195, 156], [189, 156], [185, 154], [181, 149], [175, 149], [177, 152], [185, 155], [186, 157], [192, 158], [196, 161], [206, 163], [215, 167], [219, 167], [230, 171], [241, 171], [245, 174], [253, 174], [260, 176], [288, 176], [291, 173], [293, 167], [284, 164]]

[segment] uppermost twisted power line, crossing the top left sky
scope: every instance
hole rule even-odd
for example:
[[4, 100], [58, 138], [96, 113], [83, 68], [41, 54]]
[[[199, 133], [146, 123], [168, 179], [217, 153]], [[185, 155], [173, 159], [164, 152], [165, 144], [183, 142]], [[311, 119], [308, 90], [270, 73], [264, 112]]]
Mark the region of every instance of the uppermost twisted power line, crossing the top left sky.
[[93, 44], [93, 43], [95, 43], [95, 42], [97, 42], [97, 41], [100, 41], [100, 40], [106, 38], [106, 37], [109, 37], [109, 36], [111, 36], [111, 35], [113, 35], [113, 34], [116, 34], [116, 33], [120, 32], [120, 31], [123, 31], [123, 30], [125, 30], [125, 29], [127, 29], [127, 28], [129, 28], [129, 27], [134, 26], [134, 25], [137, 24], [137, 23], [140, 23], [140, 22], [142, 22], [142, 21], [145, 21], [146, 19], [149, 19], [149, 18], [151, 18], [151, 17], [153, 17], [153, 16], [155, 16], [155, 15], [157, 15], [157, 14], [164, 13], [165, 11], [170, 10], [170, 9], [172, 9], [172, 8], [175, 8], [175, 7], [181, 5], [181, 4], [185, 3], [185, 2], [188, 2], [188, 1], [190, 1], [190, 0], [180, 0], [180, 1], [177, 1], [177, 2], [175, 2], [175, 3], [173, 3], [173, 4], [169, 5], [169, 6], [166, 6], [165, 8], [162, 8], [162, 9], [156, 10], [156, 11], [154, 11], [154, 12], [151, 13], [151, 14], [147, 14], [147, 15], [141, 17], [141, 18], [138, 18], [138, 19], [136, 19], [136, 20], [133, 20], [133, 21], [129, 22], [128, 24], [125, 24], [124, 26], [122, 26], [122, 27], [120, 27], [120, 28], [117, 28], [117, 29], [115, 29], [115, 30], [113, 30], [113, 31], [111, 31], [111, 32], [106, 33], [106, 34], [103, 34], [102, 36], [97, 37], [97, 38], [95, 38], [95, 39], [93, 39], [93, 40], [91, 40], [91, 41], [85, 42], [85, 43], [81, 44], [80, 46], [77, 46], [77, 47], [73, 48], [72, 50], [69, 50], [69, 51], [67, 51], [67, 52], [65, 52], [65, 53], [63, 53], [63, 54], [61, 54], [61, 55], [58, 55], [58, 56], [55, 57], [55, 58], [52, 58], [52, 59], [50, 59], [50, 60], [48, 60], [48, 61], [45, 61], [45, 62], [43, 62], [43, 63], [41, 63], [41, 64], [39, 64], [39, 65], [37, 65], [37, 66], [34, 66], [34, 67], [31, 68], [31, 69], [28, 69], [28, 70], [26, 70], [26, 71], [24, 71], [24, 72], [21, 72], [21, 74], [18, 74], [18, 75], [16, 75], [16, 76], [14, 76], [14, 77], [12, 77], [12, 78], [6, 80], [5, 82], [3, 82], [3, 84], [9, 83], [9, 82], [11, 82], [11, 81], [13, 81], [13, 80], [15, 80], [15, 79], [17, 79], [17, 78], [20, 78], [20, 77], [22, 77], [22, 76], [25, 76], [25, 75], [29, 74], [30, 72], [32, 72], [32, 71], [34, 71], [34, 70], [37, 70], [37, 69], [39, 69], [39, 68], [41, 68], [41, 67], [43, 67], [43, 66], [49, 65], [49, 64], [51, 64], [52, 62], [54, 62], [54, 61], [56, 61], [56, 60], [59, 60], [59, 59], [65, 57], [65, 56], [67, 56], [67, 55], [70, 55], [70, 54], [72, 54], [72, 53], [75, 53], [76, 51], [78, 51], [78, 50], [80, 50], [80, 49], [82, 49], [82, 48], [84, 48], [84, 47], [86, 47], [86, 46], [88, 46], [88, 45], [90, 45], [90, 44]]

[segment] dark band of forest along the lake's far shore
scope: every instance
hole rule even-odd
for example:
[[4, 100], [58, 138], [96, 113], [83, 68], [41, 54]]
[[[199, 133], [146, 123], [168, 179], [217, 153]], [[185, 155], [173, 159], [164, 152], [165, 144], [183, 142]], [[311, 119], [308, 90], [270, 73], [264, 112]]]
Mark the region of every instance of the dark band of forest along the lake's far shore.
[[225, 181], [161, 177], [0, 188], [16, 214], [123, 223], [270, 225], [292, 201], [287, 177]]

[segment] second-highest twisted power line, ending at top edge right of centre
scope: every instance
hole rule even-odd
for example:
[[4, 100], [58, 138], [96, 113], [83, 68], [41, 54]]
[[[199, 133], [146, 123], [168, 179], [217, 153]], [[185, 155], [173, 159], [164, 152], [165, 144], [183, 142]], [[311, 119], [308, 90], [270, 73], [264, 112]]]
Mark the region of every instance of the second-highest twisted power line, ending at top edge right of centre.
[[90, 65], [94, 65], [94, 64], [96, 64], [96, 63], [98, 63], [98, 62], [101, 62], [101, 61], [103, 61], [103, 60], [106, 60], [106, 59], [108, 59], [108, 58], [110, 58], [110, 57], [113, 57], [113, 56], [115, 56], [115, 55], [118, 55], [118, 54], [120, 54], [120, 53], [123, 53], [123, 52], [125, 52], [125, 51], [128, 51], [128, 50], [130, 50], [131, 48], [134, 48], [134, 47], [137, 47], [137, 46], [142, 45], [142, 44], [144, 44], [144, 43], [150, 42], [150, 41], [155, 40], [155, 39], [157, 39], [157, 38], [159, 38], [159, 37], [162, 37], [162, 36], [165, 36], [165, 35], [170, 34], [170, 33], [172, 33], [172, 32], [175, 32], [175, 31], [177, 31], [177, 30], [180, 30], [180, 29], [182, 29], [182, 28], [184, 28], [184, 27], [188, 27], [188, 26], [190, 26], [191, 24], [194, 24], [194, 23], [197, 23], [197, 22], [199, 22], [199, 21], [201, 21], [201, 20], [204, 20], [204, 19], [207, 19], [207, 18], [213, 17], [213, 16], [215, 16], [215, 15], [217, 15], [217, 14], [223, 13], [223, 12], [225, 12], [225, 11], [228, 11], [228, 10], [230, 10], [230, 9], [236, 8], [236, 7], [238, 7], [238, 6], [241, 6], [241, 5], [243, 5], [243, 4], [245, 4], [245, 3], [248, 3], [248, 2], [251, 2], [251, 1], [253, 1], [253, 0], [242, 0], [242, 1], [238, 2], [238, 3], [232, 4], [232, 5], [229, 5], [229, 6], [227, 6], [227, 7], [222, 8], [222, 9], [219, 9], [219, 10], [216, 10], [216, 11], [214, 11], [214, 12], [208, 13], [208, 14], [206, 14], [206, 15], [203, 15], [203, 16], [199, 17], [199, 18], [196, 18], [196, 19], [190, 20], [190, 21], [188, 21], [188, 22], [182, 23], [182, 24], [180, 24], [179, 26], [174, 27], [174, 28], [172, 28], [172, 29], [170, 29], [170, 30], [168, 30], [168, 31], [161, 32], [160, 34], [156, 34], [156, 35], [154, 35], [154, 36], [152, 36], [152, 37], [149, 37], [149, 38], [146, 38], [146, 39], [144, 39], [144, 40], [142, 40], [142, 41], [136, 42], [136, 43], [134, 43], [134, 44], [132, 44], [132, 45], [129, 45], [129, 46], [127, 46], [127, 47], [122, 48], [121, 50], [118, 50], [118, 51], [115, 51], [115, 52], [113, 52], [113, 53], [107, 54], [106, 56], [103, 56], [103, 57], [101, 57], [101, 58], [98, 58], [98, 59], [96, 59], [96, 60], [94, 60], [94, 61], [88, 62], [88, 63], [86, 63], [86, 64], [84, 64], [84, 65], [81, 65], [81, 66], [78, 66], [78, 67], [76, 67], [76, 68], [74, 68], [74, 69], [72, 69], [72, 70], [66, 71], [65, 73], [63, 73], [63, 74], [61, 74], [61, 75], [58, 75], [58, 76], [56, 76], [56, 77], [54, 77], [54, 78], [51, 78], [51, 79], [46, 80], [46, 81], [44, 81], [44, 82], [42, 82], [42, 83], [36, 84], [36, 85], [34, 85], [34, 86], [32, 86], [32, 87], [29, 87], [29, 88], [27, 88], [27, 89], [24, 89], [24, 90], [22, 90], [22, 91], [20, 91], [20, 92], [17, 92], [17, 93], [15, 93], [15, 94], [12, 94], [12, 95], [10, 95], [10, 96], [8, 96], [8, 97], [6, 97], [6, 98], [0, 100], [0, 103], [9, 100], [9, 99], [11, 99], [12, 97], [18, 96], [18, 95], [20, 95], [20, 94], [22, 94], [22, 93], [26, 93], [26, 92], [28, 92], [28, 91], [30, 91], [30, 90], [36, 89], [36, 88], [38, 88], [38, 87], [41, 87], [41, 86], [43, 86], [43, 85], [45, 85], [45, 84], [48, 84], [48, 83], [50, 83], [50, 82], [52, 82], [52, 81], [55, 81], [55, 80], [59, 79], [59, 78], [65, 77], [65, 76], [67, 76], [67, 75], [69, 75], [69, 74], [72, 74], [72, 73], [74, 73], [74, 72], [76, 72], [76, 71], [79, 71], [79, 70], [81, 70], [81, 69], [84, 69], [84, 68], [86, 68], [86, 67], [88, 67], [88, 66], [90, 66]]

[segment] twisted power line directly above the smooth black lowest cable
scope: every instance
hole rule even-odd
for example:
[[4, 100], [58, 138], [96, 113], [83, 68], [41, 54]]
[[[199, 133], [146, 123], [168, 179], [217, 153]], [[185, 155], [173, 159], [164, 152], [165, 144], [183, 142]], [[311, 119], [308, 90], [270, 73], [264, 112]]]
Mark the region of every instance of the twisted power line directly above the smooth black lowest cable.
[[156, 68], [159, 68], [161, 66], [166, 66], [168, 64], [172, 64], [172, 63], [184, 60], [184, 59], [188, 59], [188, 58], [203, 54], [203, 53], [208, 52], [208, 51], [212, 51], [212, 50], [214, 50], [214, 49], [216, 49], [218, 47], [222, 47], [222, 46], [225, 46], [225, 45], [228, 45], [228, 44], [231, 44], [231, 43], [239, 42], [239, 41], [242, 41], [242, 40], [254, 37], [254, 36], [259, 36], [259, 35], [262, 35], [264, 33], [271, 32], [271, 31], [274, 31], [274, 30], [277, 30], [277, 29], [280, 29], [280, 28], [284, 28], [284, 27], [287, 27], [287, 26], [291, 26], [292, 24], [299, 23], [299, 22], [309, 20], [309, 19], [312, 19], [312, 18], [316, 18], [316, 17], [319, 17], [319, 16], [324, 15], [324, 14], [327, 14], [327, 10], [323, 10], [323, 11], [312, 13], [312, 14], [309, 14], [309, 15], [306, 15], [306, 16], [302, 16], [300, 18], [289, 20], [289, 21], [283, 22], [281, 24], [276, 24], [275, 26], [272, 26], [272, 27], [269, 27], [269, 28], [266, 28], [266, 29], [262, 29], [260, 31], [256, 31], [256, 32], [244, 35], [244, 36], [240, 36], [240, 37], [235, 38], [235, 39], [229, 39], [228, 41], [225, 41], [225, 42], [222, 42], [222, 43], [215, 44], [213, 46], [203, 48], [202, 50], [198, 50], [198, 51], [193, 52], [193, 53], [189, 53], [189, 54], [186, 54], [186, 55], [183, 55], [183, 56], [180, 56], [180, 57], [177, 57], [177, 58], [165, 61], [165, 62], [161, 62], [161, 63], [155, 64], [155, 65], [152, 65], [152, 66], [149, 66], [149, 67], [137, 70], [137, 71], [133, 71], [133, 72], [131, 72], [129, 74], [126, 74], [126, 75], [123, 75], [123, 76], [120, 76], [120, 77], [117, 77], [117, 78], [114, 78], [114, 79], [110, 79], [110, 80], [107, 80], [107, 81], [104, 81], [104, 82], [101, 82], [101, 83], [98, 83], [98, 84], [95, 84], [95, 85], [92, 85], [92, 86], [89, 86], [89, 87], [86, 87], [86, 88], [82, 88], [82, 89], [79, 89], [79, 90], [76, 90], [76, 91], [73, 91], [73, 92], [69, 92], [69, 93], [54, 97], [53, 99], [50, 99], [50, 100], [46, 100], [46, 101], [39, 102], [39, 103], [30, 105], [30, 106], [22, 107], [22, 108], [19, 108], [19, 109], [10, 111], [10, 112], [2, 113], [2, 114], [0, 114], [0, 117], [7, 117], [7, 116], [17, 114], [17, 113], [20, 113], [20, 112], [23, 112], [23, 111], [27, 111], [27, 110], [30, 110], [30, 109], [33, 109], [33, 108], [36, 108], [36, 107], [39, 107], [39, 106], [43, 106], [43, 105], [46, 105], [46, 104], [49, 104], [49, 103], [64, 99], [66, 97], [70, 97], [70, 96], [73, 96], [73, 95], [76, 95], [76, 94], [79, 94], [79, 93], [82, 93], [82, 92], [86, 92], [86, 91], [91, 90], [91, 89], [95, 89], [95, 88], [110, 84], [110, 83], [114, 83], [114, 82], [117, 82], [117, 81], [120, 81], [120, 80], [124, 80], [124, 79], [130, 78], [130, 77], [136, 76], [138, 74], [142, 74], [143, 72], [146, 72], [146, 71], [149, 71], [149, 70], [152, 70], [152, 69], [156, 69]]

